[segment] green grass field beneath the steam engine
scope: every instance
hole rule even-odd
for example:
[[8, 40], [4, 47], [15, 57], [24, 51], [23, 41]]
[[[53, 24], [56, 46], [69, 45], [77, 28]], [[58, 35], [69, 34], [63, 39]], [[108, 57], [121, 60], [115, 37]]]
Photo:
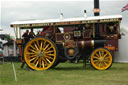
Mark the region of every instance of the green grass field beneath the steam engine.
[[105, 71], [93, 69], [83, 63], [62, 63], [55, 69], [28, 71], [14, 63], [17, 82], [11, 63], [0, 65], [0, 85], [128, 85], [128, 63], [113, 63]]

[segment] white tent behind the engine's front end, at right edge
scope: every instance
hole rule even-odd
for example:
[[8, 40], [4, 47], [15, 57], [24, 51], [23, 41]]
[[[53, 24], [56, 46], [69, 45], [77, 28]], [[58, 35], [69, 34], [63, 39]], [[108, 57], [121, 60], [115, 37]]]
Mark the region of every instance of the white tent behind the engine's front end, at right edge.
[[122, 28], [119, 39], [119, 51], [115, 52], [115, 62], [128, 62], [128, 29]]

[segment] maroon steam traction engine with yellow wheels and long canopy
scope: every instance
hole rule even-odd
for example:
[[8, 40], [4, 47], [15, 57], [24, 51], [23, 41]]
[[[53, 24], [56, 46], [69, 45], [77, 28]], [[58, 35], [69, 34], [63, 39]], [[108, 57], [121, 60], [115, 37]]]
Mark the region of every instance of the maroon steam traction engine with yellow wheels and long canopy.
[[[86, 59], [98, 70], [111, 67], [118, 51], [121, 15], [17, 21], [11, 24], [20, 56], [34, 70], [54, 68], [66, 60]], [[96, 24], [99, 28], [96, 29]], [[27, 44], [21, 30], [43, 29]]]

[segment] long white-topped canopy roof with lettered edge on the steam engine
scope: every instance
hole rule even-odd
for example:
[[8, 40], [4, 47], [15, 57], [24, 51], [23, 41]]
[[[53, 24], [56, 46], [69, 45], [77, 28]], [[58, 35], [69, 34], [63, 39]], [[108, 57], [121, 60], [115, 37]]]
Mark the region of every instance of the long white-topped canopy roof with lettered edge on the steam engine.
[[121, 15], [111, 16], [93, 16], [93, 17], [76, 17], [76, 18], [59, 18], [48, 20], [21, 20], [11, 23], [11, 27], [41, 27], [52, 25], [74, 25], [85, 23], [115, 22], [122, 19]]

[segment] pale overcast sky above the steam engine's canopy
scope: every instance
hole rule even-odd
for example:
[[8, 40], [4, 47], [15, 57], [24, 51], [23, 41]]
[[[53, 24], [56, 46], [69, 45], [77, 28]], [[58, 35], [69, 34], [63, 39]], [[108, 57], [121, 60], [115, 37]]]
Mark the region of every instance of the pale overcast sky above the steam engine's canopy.
[[[128, 10], [121, 12], [128, 0], [100, 0], [100, 15], [120, 14], [123, 16], [121, 27], [128, 27]], [[93, 16], [93, 0], [2, 0], [1, 24], [4, 33], [14, 35], [10, 23], [17, 20], [59, 18], [60, 13], [67, 17], [82, 17], [83, 10], [87, 16]]]

